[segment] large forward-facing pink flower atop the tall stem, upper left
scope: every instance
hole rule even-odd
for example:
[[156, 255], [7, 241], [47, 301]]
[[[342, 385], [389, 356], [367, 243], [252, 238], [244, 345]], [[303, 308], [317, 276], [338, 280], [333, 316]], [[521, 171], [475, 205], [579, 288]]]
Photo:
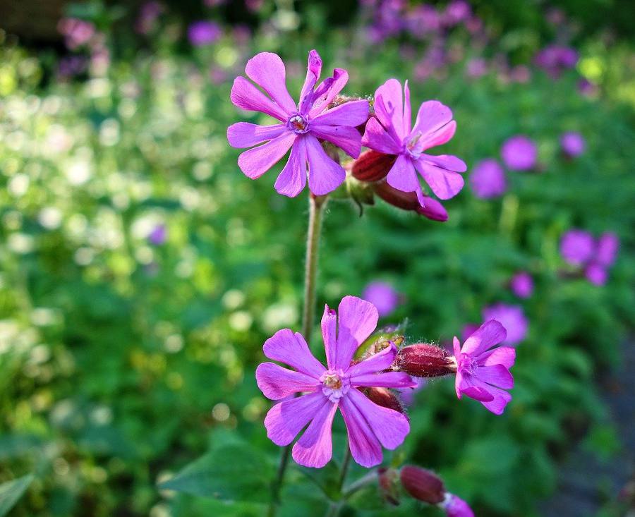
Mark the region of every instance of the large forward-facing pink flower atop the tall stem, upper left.
[[320, 140], [332, 142], [353, 158], [361, 151], [356, 126], [368, 118], [368, 101], [346, 102], [328, 109], [346, 85], [349, 74], [336, 68], [332, 77], [315, 87], [321, 71], [322, 59], [312, 50], [300, 102], [296, 105], [286, 90], [282, 59], [277, 54], [261, 52], [248, 61], [245, 72], [269, 97], [242, 76], [234, 80], [231, 88], [231, 102], [237, 107], [261, 111], [282, 122], [272, 126], [238, 122], [229, 126], [227, 140], [233, 147], [267, 142], [243, 152], [238, 157], [238, 166], [248, 178], [260, 178], [291, 149], [289, 162], [275, 183], [278, 193], [289, 197], [298, 195], [305, 187], [307, 163], [309, 189], [315, 195], [332, 192], [346, 178], [342, 166], [326, 154]]

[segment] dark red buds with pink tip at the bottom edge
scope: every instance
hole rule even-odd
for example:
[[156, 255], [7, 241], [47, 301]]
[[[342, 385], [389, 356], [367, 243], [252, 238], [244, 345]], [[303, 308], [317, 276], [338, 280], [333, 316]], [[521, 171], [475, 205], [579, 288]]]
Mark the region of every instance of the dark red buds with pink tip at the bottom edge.
[[433, 506], [438, 506], [448, 517], [474, 517], [468, 504], [445, 489], [439, 476], [425, 468], [406, 465], [401, 469], [381, 468], [377, 472], [380, 492], [385, 501], [399, 505], [401, 494]]

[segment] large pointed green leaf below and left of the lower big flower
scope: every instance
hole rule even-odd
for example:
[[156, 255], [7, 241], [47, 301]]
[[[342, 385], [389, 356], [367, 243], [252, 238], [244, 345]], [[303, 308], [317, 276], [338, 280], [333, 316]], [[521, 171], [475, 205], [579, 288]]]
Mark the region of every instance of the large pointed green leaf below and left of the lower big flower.
[[228, 444], [193, 461], [159, 488], [223, 501], [267, 502], [273, 473], [262, 452], [248, 444]]

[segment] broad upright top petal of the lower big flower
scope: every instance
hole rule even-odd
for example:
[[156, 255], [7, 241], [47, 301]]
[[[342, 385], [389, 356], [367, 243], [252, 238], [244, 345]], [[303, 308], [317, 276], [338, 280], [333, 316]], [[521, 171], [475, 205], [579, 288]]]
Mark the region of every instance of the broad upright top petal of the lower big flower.
[[335, 367], [348, 370], [361, 343], [377, 327], [379, 313], [370, 302], [356, 296], [344, 296], [337, 308], [337, 350]]

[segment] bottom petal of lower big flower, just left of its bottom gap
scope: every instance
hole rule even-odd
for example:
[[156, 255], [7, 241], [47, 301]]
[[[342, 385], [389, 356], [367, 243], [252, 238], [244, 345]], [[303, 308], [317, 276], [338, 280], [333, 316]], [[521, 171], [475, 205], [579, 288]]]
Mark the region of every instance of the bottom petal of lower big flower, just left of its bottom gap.
[[305, 467], [322, 468], [329, 463], [333, 442], [331, 427], [337, 404], [329, 403], [320, 408], [306, 428], [304, 434], [294, 445], [294, 460]]

